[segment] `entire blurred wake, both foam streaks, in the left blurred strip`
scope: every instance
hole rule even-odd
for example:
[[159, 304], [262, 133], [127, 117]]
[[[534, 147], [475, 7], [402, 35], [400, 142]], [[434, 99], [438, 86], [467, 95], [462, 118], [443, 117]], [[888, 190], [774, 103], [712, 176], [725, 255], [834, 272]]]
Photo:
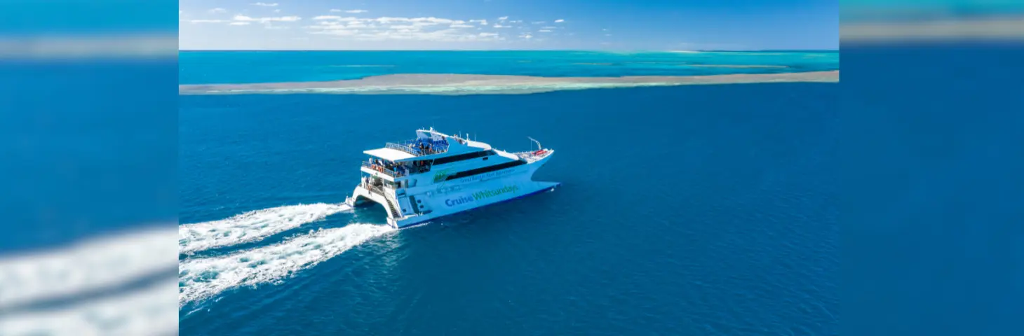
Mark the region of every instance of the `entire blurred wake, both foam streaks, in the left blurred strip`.
[[0, 335], [176, 335], [170, 223], [0, 255]]

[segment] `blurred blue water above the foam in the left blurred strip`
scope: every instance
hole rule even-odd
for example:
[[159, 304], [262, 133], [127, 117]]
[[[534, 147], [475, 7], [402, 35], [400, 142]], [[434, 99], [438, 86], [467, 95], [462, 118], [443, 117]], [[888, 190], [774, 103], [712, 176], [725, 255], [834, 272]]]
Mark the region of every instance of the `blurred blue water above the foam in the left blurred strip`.
[[174, 222], [177, 97], [169, 83], [139, 82], [170, 80], [176, 67], [173, 58], [0, 61], [0, 213], [10, 228], [0, 253]]

